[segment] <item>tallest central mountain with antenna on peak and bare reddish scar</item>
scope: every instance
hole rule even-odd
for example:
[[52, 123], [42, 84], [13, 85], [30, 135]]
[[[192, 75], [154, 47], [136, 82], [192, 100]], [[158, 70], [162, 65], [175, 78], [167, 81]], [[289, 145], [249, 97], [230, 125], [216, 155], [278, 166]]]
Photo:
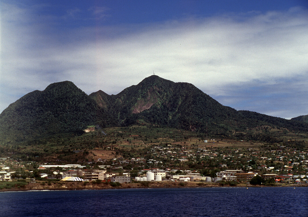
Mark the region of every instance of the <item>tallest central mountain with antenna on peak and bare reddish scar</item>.
[[[242, 117], [233, 108], [223, 106], [193, 84], [175, 83], [150, 76], [117, 95], [92, 93], [99, 104], [117, 117], [122, 125], [146, 122], [186, 130], [219, 133], [231, 128], [243, 129]], [[98, 97], [100, 96], [100, 97]]]

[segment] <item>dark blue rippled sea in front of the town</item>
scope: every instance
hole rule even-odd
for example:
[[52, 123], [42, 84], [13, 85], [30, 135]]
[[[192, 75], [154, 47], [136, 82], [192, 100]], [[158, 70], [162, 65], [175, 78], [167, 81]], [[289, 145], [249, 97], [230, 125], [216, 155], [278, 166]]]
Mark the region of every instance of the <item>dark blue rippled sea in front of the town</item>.
[[0, 192], [0, 216], [308, 216], [307, 187]]

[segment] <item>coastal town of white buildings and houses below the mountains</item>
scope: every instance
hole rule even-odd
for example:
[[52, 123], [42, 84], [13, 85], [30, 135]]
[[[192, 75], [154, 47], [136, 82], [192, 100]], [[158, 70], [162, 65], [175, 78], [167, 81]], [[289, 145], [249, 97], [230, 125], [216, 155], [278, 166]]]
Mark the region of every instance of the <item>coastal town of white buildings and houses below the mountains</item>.
[[[264, 183], [270, 180], [266, 182], [270, 185], [307, 183], [308, 153], [305, 147], [278, 143], [255, 145], [241, 140], [201, 140], [193, 137], [185, 137], [183, 141], [166, 138], [159, 141], [157, 138], [145, 144], [138, 137], [123, 137], [122, 143], [109, 139], [108, 146], [100, 147], [102, 152], [97, 151], [99, 148], [75, 149], [72, 152], [81, 157], [74, 158], [70, 162], [72, 164], [64, 164], [67, 162], [64, 160], [36, 162], [27, 156], [23, 159], [2, 157], [0, 181], [171, 181], [227, 182], [236, 185], [249, 184], [253, 178], [260, 176]], [[123, 141], [129, 146], [124, 148]], [[104, 159], [107, 152], [113, 155]], [[98, 153], [105, 155], [101, 154], [100, 157]]]

